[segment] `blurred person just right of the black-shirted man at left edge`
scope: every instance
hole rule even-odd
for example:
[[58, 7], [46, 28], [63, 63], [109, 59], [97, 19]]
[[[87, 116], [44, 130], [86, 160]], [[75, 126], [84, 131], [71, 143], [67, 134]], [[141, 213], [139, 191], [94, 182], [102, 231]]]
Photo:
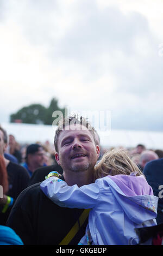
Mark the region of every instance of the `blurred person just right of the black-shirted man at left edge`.
[[12, 154], [14, 157], [17, 158], [18, 163], [22, 162], [22, 154], [18, 148], [18, 143], [15, 140], [14, 135], [9, 135], [9, 153]]

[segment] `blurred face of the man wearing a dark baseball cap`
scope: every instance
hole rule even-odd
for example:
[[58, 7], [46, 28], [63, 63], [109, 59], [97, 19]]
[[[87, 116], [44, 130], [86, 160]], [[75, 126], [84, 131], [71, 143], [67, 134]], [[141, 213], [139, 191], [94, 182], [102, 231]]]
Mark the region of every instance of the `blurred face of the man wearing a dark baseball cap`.
[[39, 148], [39, 151], [29, 154], [28, 156], [28, 162], [29, 164], [34, 164], [37, 168], [43, 166], [44, 163], [44, 156], [45, 152], [43, 151], [43, 148]]

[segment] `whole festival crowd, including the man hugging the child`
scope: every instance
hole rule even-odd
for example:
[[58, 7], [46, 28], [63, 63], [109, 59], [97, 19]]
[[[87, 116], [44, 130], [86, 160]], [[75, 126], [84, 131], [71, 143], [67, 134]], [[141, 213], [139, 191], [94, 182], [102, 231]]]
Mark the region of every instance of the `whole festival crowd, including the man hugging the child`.
[[20, 145], [0, 127], [0, 245], [128, 245], [163, 223], [161, 149], [103, 148], [76, 116], [62, 127], [54, 145]]

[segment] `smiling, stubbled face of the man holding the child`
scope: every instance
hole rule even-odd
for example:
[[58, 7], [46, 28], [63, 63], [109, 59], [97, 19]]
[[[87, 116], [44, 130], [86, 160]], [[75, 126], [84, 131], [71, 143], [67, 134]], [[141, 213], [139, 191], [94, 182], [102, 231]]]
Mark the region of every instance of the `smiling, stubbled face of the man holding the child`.
[[[83, 128], [83, 129], [82, 129]], [[99, 156], [99, 146], [91, 132], [80, 124], [62, 130], [58, 138], [58, 152], [55, 158], [64, 171], [92, 170]]]

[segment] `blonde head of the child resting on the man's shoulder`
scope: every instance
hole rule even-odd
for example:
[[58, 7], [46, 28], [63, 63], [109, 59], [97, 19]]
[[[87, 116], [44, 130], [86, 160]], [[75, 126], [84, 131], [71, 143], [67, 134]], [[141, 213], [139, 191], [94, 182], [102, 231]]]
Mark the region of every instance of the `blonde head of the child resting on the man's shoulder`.
[[130, 175], [134, 171], [137, 172], [137, 175], [142, 175], [137, 165], [128, 157], [127, 151], [114, 149], [106, 152], [95, 166], [95, 177], [101, 178], [117, 174]]

